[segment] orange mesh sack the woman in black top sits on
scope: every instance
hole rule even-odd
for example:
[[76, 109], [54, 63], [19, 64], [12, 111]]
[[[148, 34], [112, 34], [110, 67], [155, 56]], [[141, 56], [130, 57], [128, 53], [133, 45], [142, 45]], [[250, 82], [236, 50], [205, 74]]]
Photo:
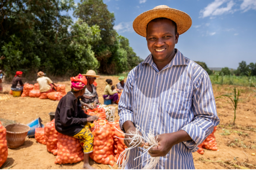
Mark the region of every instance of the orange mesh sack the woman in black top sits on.
[[83, 160], [83, 148], [79, 139], [58, 133], [57, 147], [55, 164], [74, 164]]

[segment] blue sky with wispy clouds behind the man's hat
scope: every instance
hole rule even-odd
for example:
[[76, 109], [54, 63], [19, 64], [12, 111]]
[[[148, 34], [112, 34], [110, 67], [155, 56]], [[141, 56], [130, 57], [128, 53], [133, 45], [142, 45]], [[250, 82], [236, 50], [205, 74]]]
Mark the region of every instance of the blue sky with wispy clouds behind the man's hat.
[[[80, 0], [75, 0], [76, 3]], [[191, 28], [180, 35], [176, 48], [208, 67], [237, 68], [242, 60], [256, 62], [256, 0], [103, 0], [115, 14], [115, 29], [128, 38], [135, 53], [145, 59], [146, 39], [136, 34], [133, 20], [158, 5], [186, 12]], [[70, 11], [71, 13], [71, 11]]]

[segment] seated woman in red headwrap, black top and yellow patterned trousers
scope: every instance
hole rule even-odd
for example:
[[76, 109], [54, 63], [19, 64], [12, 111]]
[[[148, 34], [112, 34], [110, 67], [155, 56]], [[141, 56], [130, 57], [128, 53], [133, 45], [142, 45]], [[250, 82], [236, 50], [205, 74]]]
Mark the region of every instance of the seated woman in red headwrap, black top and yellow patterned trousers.
[[90, 116], [82, 110], [79, 96], [85, 92], [85, 77], [79, 74], [71, 77], [71, 91], [59, 101], [55, 112], [55, 128], [61, 134], [80, 140], [83, 147], [83, 168], [95, 169], [89, 165], [89, 153], [93, 151], [94, 136], [90, 128], [98, 116]]

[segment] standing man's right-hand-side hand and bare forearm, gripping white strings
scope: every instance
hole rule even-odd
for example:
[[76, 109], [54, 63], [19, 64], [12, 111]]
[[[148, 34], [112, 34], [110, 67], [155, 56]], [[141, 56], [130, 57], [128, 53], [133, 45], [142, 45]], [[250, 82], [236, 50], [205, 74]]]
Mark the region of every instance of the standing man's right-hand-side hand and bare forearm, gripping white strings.
[[[156, 138], [156, 137], [155, 137]], [[192, 140], [191, 137], [187, 134], [187, 132], [180, 130], [173, 133], [165, 133], [158, 135], [157, 141], [158, 146], [152, 147], [148, 150], [150, 156], [158, 157], [165, 156], [171, 150], [173, 145], [178, 144], [182, 141]], [[145, 149], [147, 149], [150, 145], [145, 143]]]

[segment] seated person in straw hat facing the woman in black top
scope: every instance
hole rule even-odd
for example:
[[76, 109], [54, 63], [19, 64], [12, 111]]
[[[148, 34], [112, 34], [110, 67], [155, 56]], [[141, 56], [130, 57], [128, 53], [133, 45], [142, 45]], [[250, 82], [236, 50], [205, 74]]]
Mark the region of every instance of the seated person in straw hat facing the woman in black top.
[[89, 109], [93, 108], [104, 108], [106, 112], [106, 119], [109, 122], [114, 122], [114, 113], [112, 109], [106, 105], [100, 104], [98, 101], [98, 94], [96, 92], [96, 87], [94, 86], [94, 80], [100, 77], [96, 75], [96, 72], [89, 70], [86, 74], [82, 74], [87, 79], [87, 84], [85, 88], [85, 93], [80, 97], [82, 106], [88, 107]]

